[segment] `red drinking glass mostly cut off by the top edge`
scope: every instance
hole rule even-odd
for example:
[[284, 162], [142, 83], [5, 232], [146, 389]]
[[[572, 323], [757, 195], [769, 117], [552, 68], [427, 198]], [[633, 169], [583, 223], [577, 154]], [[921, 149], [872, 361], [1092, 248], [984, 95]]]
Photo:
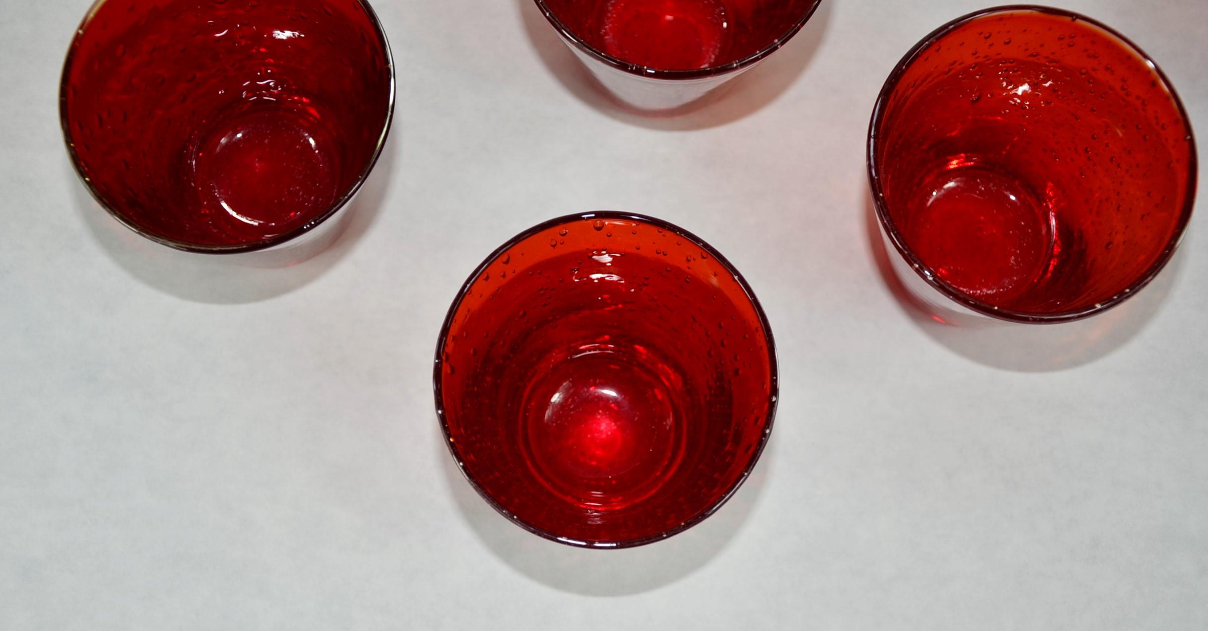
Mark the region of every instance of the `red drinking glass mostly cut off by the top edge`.
[[821, 0], [535, 0], [617, 99], [670, 110], [751, 69]]

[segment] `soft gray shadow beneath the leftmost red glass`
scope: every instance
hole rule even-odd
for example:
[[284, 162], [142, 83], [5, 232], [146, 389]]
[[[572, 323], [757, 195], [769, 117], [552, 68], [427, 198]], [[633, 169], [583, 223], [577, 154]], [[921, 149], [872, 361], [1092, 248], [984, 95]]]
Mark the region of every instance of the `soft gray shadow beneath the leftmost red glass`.
[[[76, 213], [94, 241], [120, 267], [165, 294], [215, 305], [259, 302], [292, 291], [343, 259], [377, 219], [397, 155], [397, 134], [382, 147], [373, 172], [353, 202], [324, 224], [325, 235], [284, 253], [193, 254], [146, 239], [109, 215], [64, 161]], [[324, 248], [319, 250], [319, 248]]]

